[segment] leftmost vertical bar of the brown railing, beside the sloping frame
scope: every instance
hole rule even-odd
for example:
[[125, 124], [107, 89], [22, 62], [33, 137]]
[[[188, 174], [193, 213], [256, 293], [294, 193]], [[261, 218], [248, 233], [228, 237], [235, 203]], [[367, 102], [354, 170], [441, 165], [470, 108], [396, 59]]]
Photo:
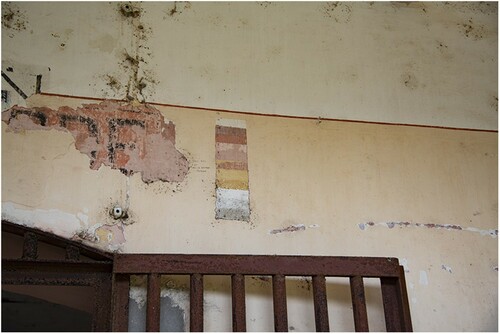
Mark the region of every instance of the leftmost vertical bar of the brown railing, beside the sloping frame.
[[127, 274], [113, 275], [113, 332], [128, 331], [128, 301], [130, 293], [130, 276]]

